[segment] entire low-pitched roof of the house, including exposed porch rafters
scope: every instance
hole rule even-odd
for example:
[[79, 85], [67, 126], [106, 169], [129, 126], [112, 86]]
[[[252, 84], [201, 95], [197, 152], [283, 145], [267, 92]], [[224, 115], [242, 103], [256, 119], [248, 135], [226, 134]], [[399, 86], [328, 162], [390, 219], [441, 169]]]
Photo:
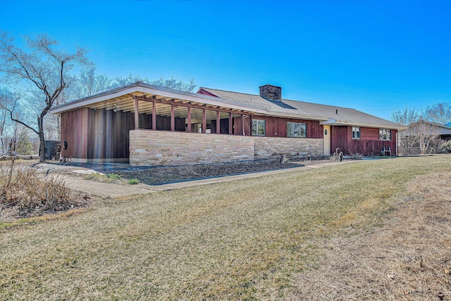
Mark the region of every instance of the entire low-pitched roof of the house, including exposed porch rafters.
[[[209, 95], [201, 94], [204, 90]], [[134, 97], [147, 97], [153, 99], [170, 100], [179, 104], [206, 105], [206, 108], [233, 109], [243, 113], [253, 113], [261, 116], [278, 116], [285, 118], [298, 118], [320, 121], [324, 125], [354, 125], [374, 128], [404, 129], [402, 125], [386, 121], [383, 118], [369, 115], [355, 109], [340, 106], [327, 106], [297, 102], [288, 99], [278, 101], [267, 100], [259, 95], [228, 92], [206, 87], [199, 88], [199, 92], [192, 93], [174, 90], [168, 87], [150, 85], [144, 82], [133, 82], [129, 85], [116, 87], [89, 97], [76, 99], [73, 102], [56, 106], [50, 113], [61, 113], [82, 107], [90, 109], [116, 109], [118, 111], [134, 111]], [[157, 110], [164, 110], [158, 104]], [[140, 102], [140, 113], [152, 113], [152, 103]]]

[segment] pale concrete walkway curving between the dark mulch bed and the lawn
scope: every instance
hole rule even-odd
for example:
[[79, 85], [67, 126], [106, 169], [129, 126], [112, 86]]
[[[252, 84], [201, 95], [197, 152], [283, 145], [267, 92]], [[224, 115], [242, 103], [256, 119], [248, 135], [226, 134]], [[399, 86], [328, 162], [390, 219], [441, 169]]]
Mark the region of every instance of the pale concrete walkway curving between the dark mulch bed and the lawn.
[[[188, 188], [199, 185], [208, 185], [215, 183], [223, 183], [231, 180], [241, 180], [245, 178], [258, 178], [261, 176], [274, 175], [278, 173], [292, 173], [295, 171], [305, 171], [311, 168], [323, 168], [326, 166], [335, 166], [341, 164], [349, 164], [357, 161], [337, 161], [322, 164], [311, 164], [307, 166], [300, 166], [295, 168], [278, 169], [276, 171], [262, 171], [259, 173], [245, 173], [235, 176], [221, 176], [215, 178], [206, 178], [202, 180], [189, 180], [178, 183], [169, 183], [163, 185], [147, 185], [147, 184], [137, 184], [137, 185], [120, 185], [113, 183], [101, 183], [94, 180], [83, 180], [77, 176], [66, 176], [66, 185], [73, 190], [78, 190], [81, 192], [89, 193], [89, 195], [97, 195], [99, 197], [125, 197], [128, 195], [142, 195], [149, 192], [157, 192], [163, 190], [174, 190], [180, 188]], [[77, 166], [56, 166], [54, 164], [38, 164], [35, 166], [42, 173], [53, 173], [55, 171], [72, 171], [82, 173], [89, 173], [87, 168], [80, 168]]]

